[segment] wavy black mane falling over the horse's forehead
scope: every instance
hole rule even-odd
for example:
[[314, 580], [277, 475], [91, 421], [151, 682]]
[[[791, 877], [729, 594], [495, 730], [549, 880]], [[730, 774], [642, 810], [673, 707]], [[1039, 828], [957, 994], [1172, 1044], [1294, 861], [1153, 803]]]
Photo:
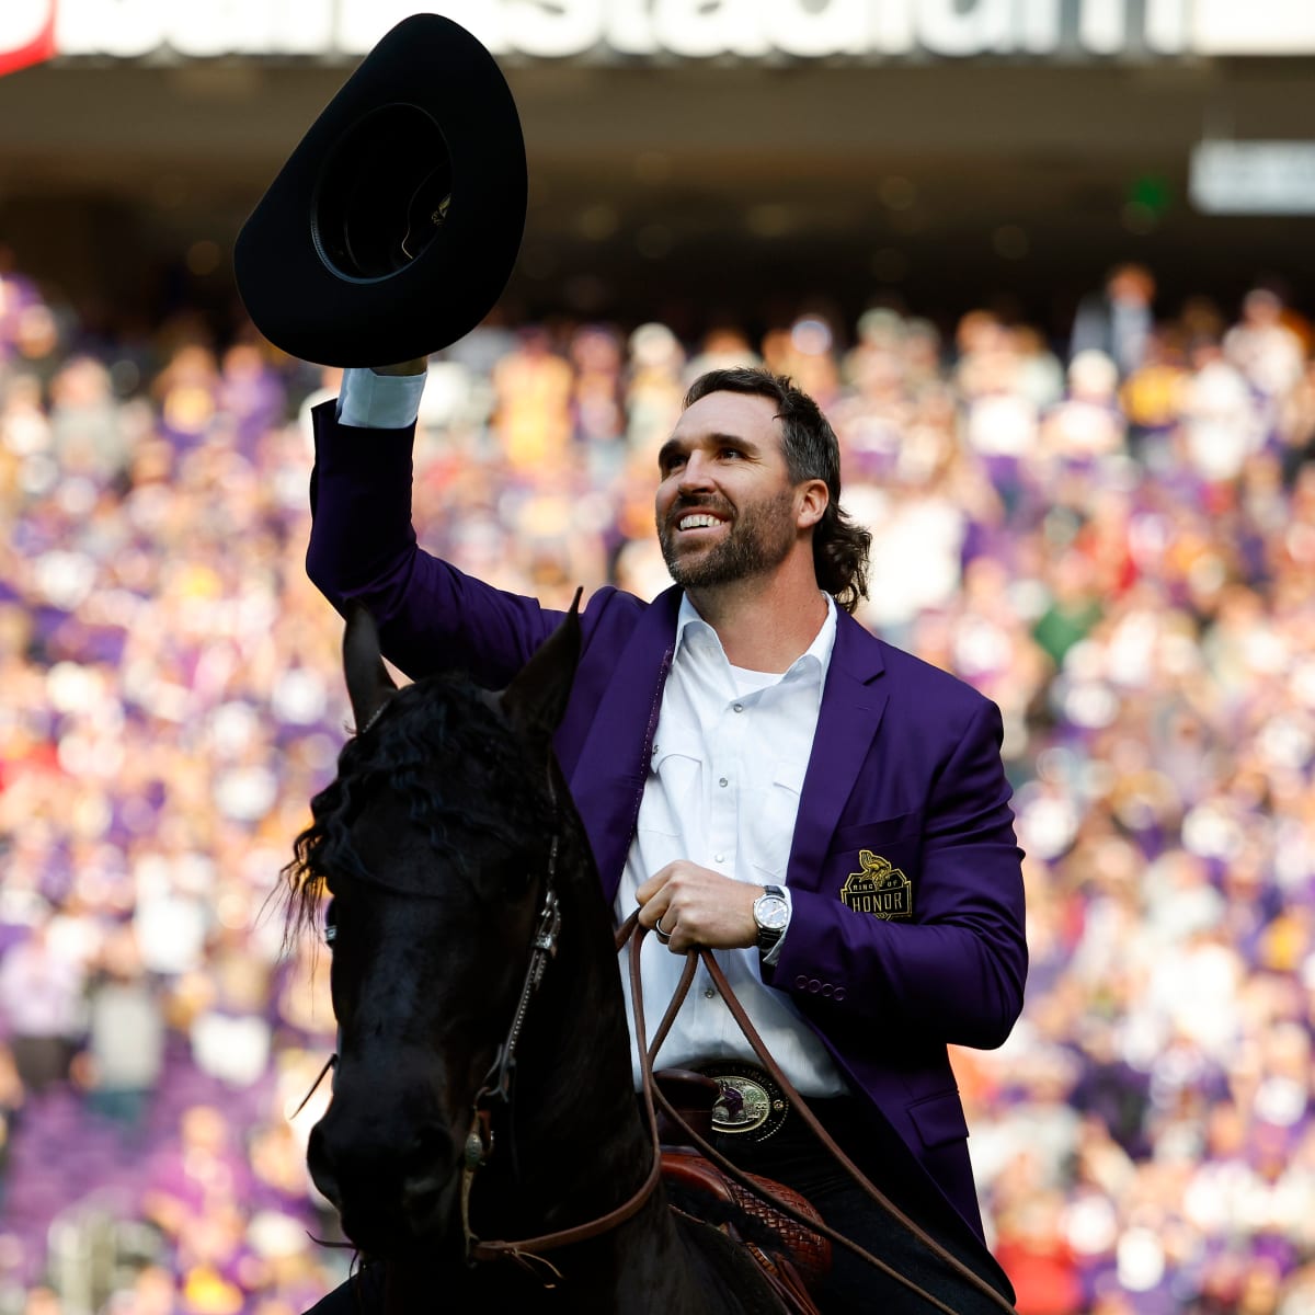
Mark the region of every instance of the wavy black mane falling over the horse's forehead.
[[[548, 776], [488, 690], [464, 675], [430, 676], [400, 689], [368, 734], [358, 731], [338, 755], [338, 772], [310, 801], [310, 825], [293, 840], [284, 882], [284, 940], [314, 926], [330, 872], [376, 880], [351, 843], [364, 803], [380, 792], [405, 801], [435, 855], [466, 872], [452, 835], [489, 836], [509, 848], [554, 826]], [[446, 771], [437, 771], [446, 767]]]

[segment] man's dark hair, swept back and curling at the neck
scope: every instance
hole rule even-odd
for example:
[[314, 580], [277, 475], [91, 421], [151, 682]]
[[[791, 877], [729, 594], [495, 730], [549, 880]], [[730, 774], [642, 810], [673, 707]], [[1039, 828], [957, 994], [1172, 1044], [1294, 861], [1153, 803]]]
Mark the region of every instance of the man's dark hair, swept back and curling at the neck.
[[872, 535], [855, 525], [840, 506], [840, 444], [822, 408], [788, 375], [750, 366], [700, 375], [685, 393], [684, 406], [693, 406], [709, 393], [746, 393], [776, 402], [790, 481], [822, 480], [828, 493], [822, 519], [813, 527], [813, 569], [818, 586], [852, 613], [859, 600], [868, 596]]

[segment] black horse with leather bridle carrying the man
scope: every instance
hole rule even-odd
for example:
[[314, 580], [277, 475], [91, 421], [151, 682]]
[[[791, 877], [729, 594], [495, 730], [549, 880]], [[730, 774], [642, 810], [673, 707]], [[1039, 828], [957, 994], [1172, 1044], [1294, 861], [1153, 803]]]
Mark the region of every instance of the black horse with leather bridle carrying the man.
[[292, 931], [331, 896], [341, 1035], [308, 1159], [367, 1257], [345, 1312], [782, 1310], [658, 1181], [610, 914], [551, 750], [579, 648], [572, 610], [501, 694], [397, 689], [373, 622], [348, 619], [358, 732], [287, 869]]

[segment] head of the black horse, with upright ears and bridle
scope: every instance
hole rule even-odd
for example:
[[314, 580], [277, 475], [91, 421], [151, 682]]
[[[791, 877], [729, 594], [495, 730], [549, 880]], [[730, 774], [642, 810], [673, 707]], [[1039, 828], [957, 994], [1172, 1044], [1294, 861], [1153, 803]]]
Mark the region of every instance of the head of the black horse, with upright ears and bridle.
[[316, 882], [327, 888], [339, 1026], [308, 1164], [364, 1252], [458, 1245], [472, 1109], [523, 1013], [555, 867], [602, 903], [551, 747], [579, 651], [572, 606], [500, 694], [463, 676], [398, 689], [368, 613], [348, 617], [358, 731], [312, 801], [289, 876], [301, 920], [317, 917]]

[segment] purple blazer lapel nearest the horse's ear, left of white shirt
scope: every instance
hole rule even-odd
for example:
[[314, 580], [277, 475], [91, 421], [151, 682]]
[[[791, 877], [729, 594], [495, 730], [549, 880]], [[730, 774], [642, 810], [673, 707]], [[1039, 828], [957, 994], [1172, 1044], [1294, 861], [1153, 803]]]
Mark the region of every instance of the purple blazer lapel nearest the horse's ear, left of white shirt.
[[615, 679], [604, 686], [571, 773], [571, 794], [609, 901], [621, 882], [648, 778], [658, 709], [676, 644], [680, 597], [680, 589], [659, 594], [611, 656]]

